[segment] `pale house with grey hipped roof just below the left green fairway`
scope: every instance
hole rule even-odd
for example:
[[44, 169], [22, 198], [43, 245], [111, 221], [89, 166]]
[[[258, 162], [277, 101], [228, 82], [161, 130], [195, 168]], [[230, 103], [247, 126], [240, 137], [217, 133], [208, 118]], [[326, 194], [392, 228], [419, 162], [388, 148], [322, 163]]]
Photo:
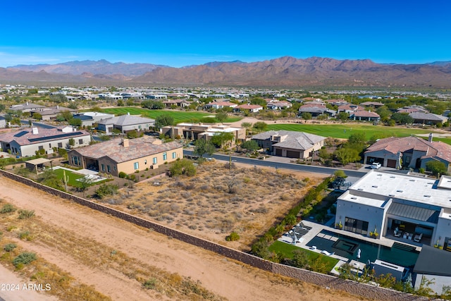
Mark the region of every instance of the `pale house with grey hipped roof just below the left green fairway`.
[[155, 126], [155, 120], [134, 115], [122, 115], [113, 118], [104, 119], [97, 122], [97, 129], [103, 130], [105, 133], [112, 133], [114, 129], [121, 133], [127, 133], [131, 130], [149, 130]]

